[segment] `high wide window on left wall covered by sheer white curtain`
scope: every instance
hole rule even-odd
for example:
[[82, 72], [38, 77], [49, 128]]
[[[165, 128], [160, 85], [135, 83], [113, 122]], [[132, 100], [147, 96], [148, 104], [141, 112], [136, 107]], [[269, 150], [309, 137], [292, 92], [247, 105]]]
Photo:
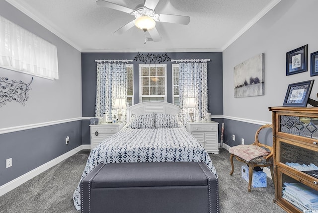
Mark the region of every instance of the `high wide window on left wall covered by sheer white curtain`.
[[59, 79], [57, 48], [0, 16], [0, 67]]

